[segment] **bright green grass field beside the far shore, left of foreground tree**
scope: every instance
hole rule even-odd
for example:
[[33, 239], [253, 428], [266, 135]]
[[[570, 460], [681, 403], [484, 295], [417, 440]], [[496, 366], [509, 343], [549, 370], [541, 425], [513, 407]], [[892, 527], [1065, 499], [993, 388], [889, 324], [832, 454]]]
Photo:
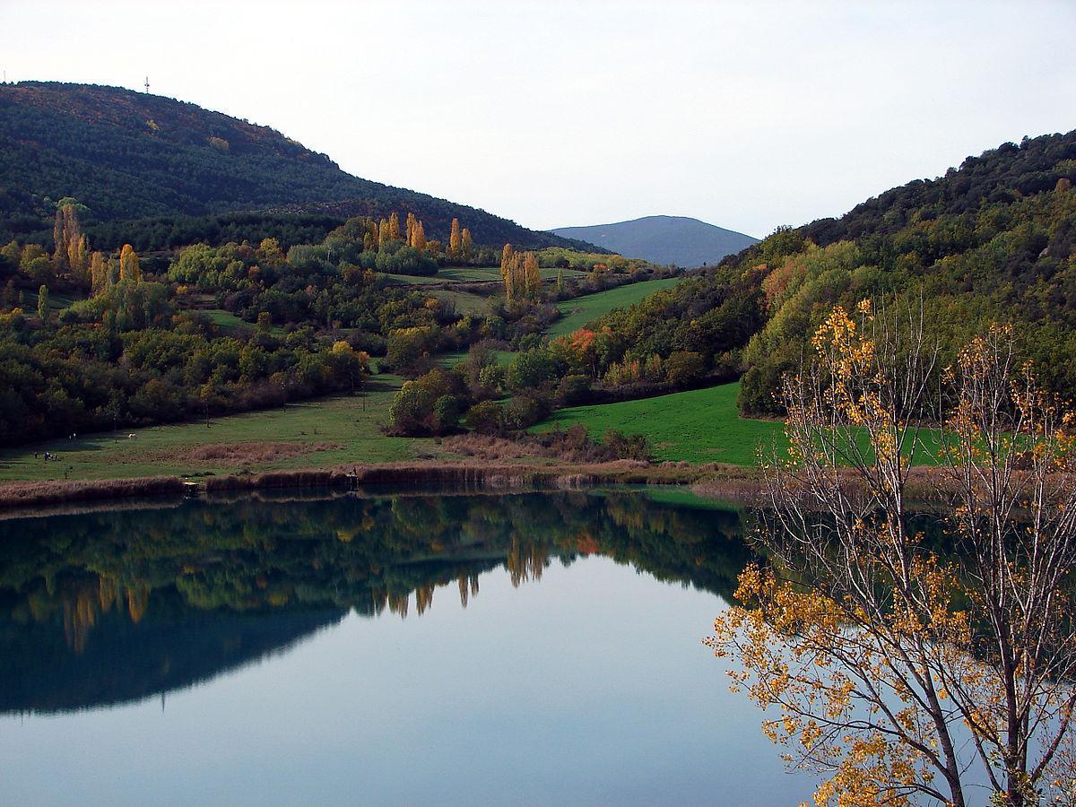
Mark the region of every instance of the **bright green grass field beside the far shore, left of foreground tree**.
[[554, 412], [537, 428], [582, 423], [597, 438], [607, 428], [645, 435], [663, 461], [754, 465], [759, 447], [771, 445], [774, 440], [783, 444], [784, 434], [778, 422], [740, 417], [738, 394], [739, 383], [733, 383], [622, 404], [572, 407]]

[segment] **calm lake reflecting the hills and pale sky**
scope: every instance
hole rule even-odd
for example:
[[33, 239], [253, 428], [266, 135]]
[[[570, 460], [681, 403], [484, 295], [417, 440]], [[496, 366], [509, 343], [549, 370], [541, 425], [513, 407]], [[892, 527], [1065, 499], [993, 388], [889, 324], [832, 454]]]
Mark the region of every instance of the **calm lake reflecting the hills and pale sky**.
[[742, 530], [653, 490], [0, 521], [0, 803], [796, 804], [702, 645]]

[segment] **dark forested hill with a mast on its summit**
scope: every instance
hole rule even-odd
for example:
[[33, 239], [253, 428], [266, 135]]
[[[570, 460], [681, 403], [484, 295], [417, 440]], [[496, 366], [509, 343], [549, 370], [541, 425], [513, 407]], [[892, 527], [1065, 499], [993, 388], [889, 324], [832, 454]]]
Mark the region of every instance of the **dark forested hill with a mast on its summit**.
[[63, 197], [88, 206], [88, 225], [254, 210], [341, 221], [410, 211], [430, 238], [447, 238], [457, 217], [477, 243], [568, 245], [482, 210], [352, 176], [274, 129], [193, 103], [118, 87], [0, 84], [0, 241], [52, 232], [51, 202]]

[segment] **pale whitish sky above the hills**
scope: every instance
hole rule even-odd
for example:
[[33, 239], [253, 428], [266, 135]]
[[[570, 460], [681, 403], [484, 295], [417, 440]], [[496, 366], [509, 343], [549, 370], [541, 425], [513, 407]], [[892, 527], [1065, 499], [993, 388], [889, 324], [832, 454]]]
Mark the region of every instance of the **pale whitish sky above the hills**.
[[1076, 128], [1076, 2], [0, 0], [0, 68], [266, 124], [534, 228], [765, 236]]

